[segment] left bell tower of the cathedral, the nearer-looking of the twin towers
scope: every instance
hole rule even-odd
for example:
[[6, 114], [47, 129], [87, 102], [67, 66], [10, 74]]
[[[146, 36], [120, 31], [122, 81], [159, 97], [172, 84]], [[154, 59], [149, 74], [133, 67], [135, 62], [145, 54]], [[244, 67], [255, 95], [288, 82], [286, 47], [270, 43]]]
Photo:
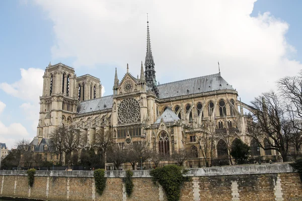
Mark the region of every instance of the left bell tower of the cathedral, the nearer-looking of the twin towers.
[[62, 63], [49, 62], [43, 75], [43, 93], [40, 96], [40, 117], [37, 127], [39, 142], [59, 125], [72, 123], [77, 112], [77, 76], [74, 69]]

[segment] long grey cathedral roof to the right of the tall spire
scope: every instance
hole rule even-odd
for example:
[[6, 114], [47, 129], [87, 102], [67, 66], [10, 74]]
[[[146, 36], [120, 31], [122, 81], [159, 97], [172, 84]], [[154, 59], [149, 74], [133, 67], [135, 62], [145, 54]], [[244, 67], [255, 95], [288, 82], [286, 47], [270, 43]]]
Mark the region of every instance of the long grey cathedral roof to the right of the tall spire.
[[157, 85], [157, 88], [159, 89], [159, 98], [169, 98], [223, 89], [235, 90], [220, 76], [220, 73], [159, 84]]

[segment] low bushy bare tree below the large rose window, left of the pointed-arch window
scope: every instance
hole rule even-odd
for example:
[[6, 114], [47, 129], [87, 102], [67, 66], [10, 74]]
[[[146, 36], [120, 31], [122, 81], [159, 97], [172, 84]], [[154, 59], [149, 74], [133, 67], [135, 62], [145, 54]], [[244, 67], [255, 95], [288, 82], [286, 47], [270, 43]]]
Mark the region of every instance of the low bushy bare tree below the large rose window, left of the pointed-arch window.
[[152, 156], [152, 150], [149, 148], [149, 144], [146, 141], [133, 142], [128, 147], [128, 159], [131, 163], [132, 169], [135, 169], [136, 163], [143, 163]]

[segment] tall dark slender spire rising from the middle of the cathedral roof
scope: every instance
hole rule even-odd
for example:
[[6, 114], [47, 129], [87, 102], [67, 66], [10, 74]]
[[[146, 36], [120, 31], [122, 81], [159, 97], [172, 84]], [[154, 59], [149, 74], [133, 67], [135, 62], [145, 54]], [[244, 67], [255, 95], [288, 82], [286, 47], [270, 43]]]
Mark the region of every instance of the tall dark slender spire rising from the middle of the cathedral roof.
[[154, 83], [156, 83], [154, 66], [155, 63], [153, 60], [152, 50], [151, 50], [149, 21], [147, 20], [147, 49], [146, 49], [146, 57], [145, 57], [145, 80], [148, 86], [154, 86]]

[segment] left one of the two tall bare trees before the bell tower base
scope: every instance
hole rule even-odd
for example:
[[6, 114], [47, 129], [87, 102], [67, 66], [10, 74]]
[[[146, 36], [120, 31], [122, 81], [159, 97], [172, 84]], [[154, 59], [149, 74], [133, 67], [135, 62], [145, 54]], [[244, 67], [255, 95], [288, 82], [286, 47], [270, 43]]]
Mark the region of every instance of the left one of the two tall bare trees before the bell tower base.
[[67, 128], [65, 126], [59, 126], [49, 134], [50, 146], [55, 149], [55, 153], [58, 153], [60, 155], [60, 164], [62, 164], [63, 152], [65, 150], [64, 139], [66, 134]]

